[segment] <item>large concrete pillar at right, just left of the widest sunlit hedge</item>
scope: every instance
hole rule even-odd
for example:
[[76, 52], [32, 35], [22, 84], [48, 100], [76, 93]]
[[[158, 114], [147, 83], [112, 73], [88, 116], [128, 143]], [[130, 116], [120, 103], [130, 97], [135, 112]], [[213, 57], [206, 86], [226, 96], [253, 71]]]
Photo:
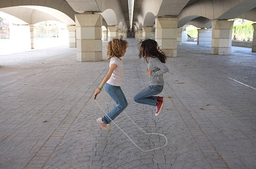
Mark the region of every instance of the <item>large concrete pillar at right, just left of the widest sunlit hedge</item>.
[[232, 28], [234, 21], [212, 21], [212, 49], [213, 55], [228, 55], [231, 52]]

